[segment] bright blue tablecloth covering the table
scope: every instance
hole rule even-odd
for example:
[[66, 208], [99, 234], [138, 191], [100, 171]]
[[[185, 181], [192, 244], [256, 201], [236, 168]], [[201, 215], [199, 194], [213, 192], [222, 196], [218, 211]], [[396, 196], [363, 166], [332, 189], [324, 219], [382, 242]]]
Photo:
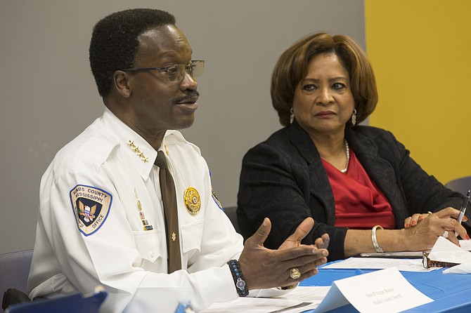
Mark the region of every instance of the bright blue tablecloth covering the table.
[[[401, 272], [401, 274], [434, 301], [406, 312], [471, 312], [471, 274], [443, 274], [444, 269], [432, 272]], [[323, 269], [300, 286], [331, 286], [333, 281], [373, 272], [374, 269]], [[309, 312], [316, 312], [315, 310]], [[347, 305], [331, 312], [358, 312]]]

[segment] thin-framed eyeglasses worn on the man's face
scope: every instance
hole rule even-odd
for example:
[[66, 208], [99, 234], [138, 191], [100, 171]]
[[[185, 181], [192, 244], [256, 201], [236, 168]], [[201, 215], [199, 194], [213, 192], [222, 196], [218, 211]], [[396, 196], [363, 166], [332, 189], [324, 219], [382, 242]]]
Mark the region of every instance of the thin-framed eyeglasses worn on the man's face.
[[188, 64], [174, 64], [166, 67], [131, 67], [121, 69], [123, 72], [147, 72], [160, 71], [166, 77], [167, 81], [182, 81], [185, 73], [191, 77], [199, 77], [205, 72], [205, 60], [191, 60]]

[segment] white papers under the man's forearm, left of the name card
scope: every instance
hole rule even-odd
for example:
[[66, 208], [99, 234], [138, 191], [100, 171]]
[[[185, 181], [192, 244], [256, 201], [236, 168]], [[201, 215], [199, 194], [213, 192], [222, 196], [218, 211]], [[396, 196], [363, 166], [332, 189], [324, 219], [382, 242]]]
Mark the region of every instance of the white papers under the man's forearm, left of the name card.
[[[214, 303], [198, 313], [297, 313], [315, 309], [330, 287], [299, 286], [290, 293], [276, 298], [238, 298], [224, 303]], [[259, 296], [263, 293], [259, 293]]]

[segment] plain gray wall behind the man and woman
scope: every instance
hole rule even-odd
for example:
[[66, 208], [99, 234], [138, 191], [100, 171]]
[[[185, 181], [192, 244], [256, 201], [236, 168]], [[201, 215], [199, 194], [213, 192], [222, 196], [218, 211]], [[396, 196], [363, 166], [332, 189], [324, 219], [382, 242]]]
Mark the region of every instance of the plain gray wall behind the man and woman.
[[280, 128], [269, 96], [280, 53], [318, 31], [365, 45], [363, 0], [0, 0], [0, 253], [32, 248], [41, 175], [103, 111], [91, 29], [131, 7], [173, 13], [193, 57], [206, 60], [196, 121], [183, 135], [201, 148], [224, 206], [236, 204], [247, 149]]

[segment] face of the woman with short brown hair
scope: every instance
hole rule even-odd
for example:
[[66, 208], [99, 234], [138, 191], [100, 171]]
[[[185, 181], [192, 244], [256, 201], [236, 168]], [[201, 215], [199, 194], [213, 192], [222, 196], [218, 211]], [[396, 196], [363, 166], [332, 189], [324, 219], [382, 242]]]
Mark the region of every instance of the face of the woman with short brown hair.
[[340, 135], [354, 110], [350, 77], [335, 53], [316, 55], [296, 87], [292, 109], [310, 135]]

